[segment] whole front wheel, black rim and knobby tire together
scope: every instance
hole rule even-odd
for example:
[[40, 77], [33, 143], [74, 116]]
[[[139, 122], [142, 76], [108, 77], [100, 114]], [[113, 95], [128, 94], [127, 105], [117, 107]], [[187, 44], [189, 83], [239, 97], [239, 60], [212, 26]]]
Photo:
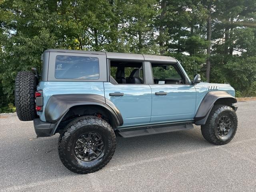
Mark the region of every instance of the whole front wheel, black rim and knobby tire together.
[[208, 142], [223, 145], [234, 138], [237, 124], [236, 112], [230, 106], [214, 105], [201, 132]]

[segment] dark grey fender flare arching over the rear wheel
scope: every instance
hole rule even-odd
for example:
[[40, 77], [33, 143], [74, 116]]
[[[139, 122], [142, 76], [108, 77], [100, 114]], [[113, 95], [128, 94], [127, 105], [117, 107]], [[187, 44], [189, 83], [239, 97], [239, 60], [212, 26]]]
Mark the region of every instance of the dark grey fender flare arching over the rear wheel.
[[71, 107], [79, 105], [102, 106], [112, 114], [117, 125], [123, 124], [123, 118], [118, 108], [110, 100], [96, 94], [52, 95], [44, 110], [46, 121], [58, 125]]

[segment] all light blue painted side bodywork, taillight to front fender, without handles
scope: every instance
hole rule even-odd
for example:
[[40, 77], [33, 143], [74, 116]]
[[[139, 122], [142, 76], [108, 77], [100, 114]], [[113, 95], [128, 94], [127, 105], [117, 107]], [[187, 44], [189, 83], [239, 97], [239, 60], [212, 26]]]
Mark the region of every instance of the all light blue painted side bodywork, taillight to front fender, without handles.
[[[216, 90], [209, 90], [216, 86]], [[207, 92], [226, 91], [234, 96], [235, 91], [229, 84], [196, 85], [147, 85], [112, 84], [110, 82], [40, 82], [38, 90], [43, 90], [43, 111], [38, 112], [40, 120], [46, 121], [44, 110], [52, 95], [56, 94], [97, 94], [105, 96], [120, 110], [125, 126], [144, 125], [180, 120], [192, 120]], [[104, 93], [105, 91], [105, 93]], [[167, 95], [155, 95], [155, 92]], [[122, 92], [124, 96], [109, 96]]]

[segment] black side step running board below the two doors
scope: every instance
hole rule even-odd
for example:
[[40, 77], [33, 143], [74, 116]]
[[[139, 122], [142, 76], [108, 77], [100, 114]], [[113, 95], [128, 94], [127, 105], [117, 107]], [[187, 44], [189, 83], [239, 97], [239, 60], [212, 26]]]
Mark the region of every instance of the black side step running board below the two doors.
[[186, 124], [186, 125], [159, 127], [159, 128], [148, 128], [148, 129], [142, 129], [142, 130], [123, 131], [123, 132], [118, 132], [118, 133], [122, 137], [136, 137], [136, 136], [167, 133], [167, 132], [180, 131], [180, 130], [189, 130], [192, 128], [194, 128], [194, 126], [192, 124]]

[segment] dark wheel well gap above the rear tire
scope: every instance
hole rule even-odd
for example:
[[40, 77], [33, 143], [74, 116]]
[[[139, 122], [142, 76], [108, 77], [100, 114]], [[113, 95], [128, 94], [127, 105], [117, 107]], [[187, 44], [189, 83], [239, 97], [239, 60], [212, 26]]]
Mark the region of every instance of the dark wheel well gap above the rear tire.
[[98, 116], [108, 122], [112, 128], [116, 128], [118, 126], [118, 122], [111, 112], [100, 105], [78, 105], [71, 107], [65, 116], [62, 118], [56, 132], [63, 129], [66, 124], [72, 121], [74, 118], [80, 116]]

